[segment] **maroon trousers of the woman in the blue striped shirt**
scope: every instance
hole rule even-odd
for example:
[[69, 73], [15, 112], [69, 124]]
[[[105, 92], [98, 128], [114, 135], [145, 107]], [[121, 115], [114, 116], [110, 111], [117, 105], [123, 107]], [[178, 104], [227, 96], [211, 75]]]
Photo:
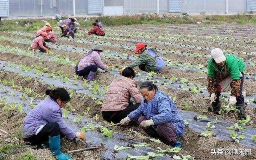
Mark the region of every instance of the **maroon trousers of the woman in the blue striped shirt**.
[[[140, 124], [142, 121], [148, 120], [145, 116], [141, 116], [138, 119], [138, 123]], [[160, 138], [164, 139], [168, 143], [172, 143], [178, 139], [178, 136], [176, 134], [176, 128], [171, 122], [166, 122], [164, 124], [159, 124], [156, 128], [156, 130], [149, 126], [146, 129], [143, 129], [149, 136], [160, 136]]]

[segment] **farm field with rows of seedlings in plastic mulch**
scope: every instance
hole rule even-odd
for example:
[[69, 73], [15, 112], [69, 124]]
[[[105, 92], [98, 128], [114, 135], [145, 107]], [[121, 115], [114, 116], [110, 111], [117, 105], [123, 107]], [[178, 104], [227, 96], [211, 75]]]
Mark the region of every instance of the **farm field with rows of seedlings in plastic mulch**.
[[[53, 26], [53, 25], [52, 25]], [[184, 25], [134, 25], [106, 26], [106, 36], [84, 36], [80, 30], [74, 40], [60, 37], [60, 28], [54, 27], [57, 43], [47, 43], [50, 54], [30, 50], [36, 31], [10, 31], [0, 34], [0, 122], [1, 128], [17, 137], [26, 114], [46, 96], [47, 88], [64, 87], [72, 99], [64, 109], [65, 122], [76, 132], [84, 131], [86, 142], [62, 139], [62, 151], [76, 150], [103, 144], [98, 150], [72, 154], [73, 160], [122, 160], [127, 154], [145, 156], [154, 160], [174, 159], [190, 155], [194, 160], [255, 160], [256, 157], [256, 29], [255, 26], [235, 24], [184, 24]], [[89, 30], [86, 27], [86, 30]], [[101, 115], [101, 103], [108, 85], [119, 76], [119, 69], [137, 58], [133, 54], [136, 43], [144, 42], [148, 48], [156, 48], [164, 57], [165, 66], [160, 72], [143, 72], [138, 67], [136, 80], [139, 86], [150, 80], [167, 93], [186, 122], [181, 138], [182, 150], [169, 151], [171, 146], [138, 132], [114, 126], [109, 137], [102, 136], [98, 128], [106, 126]], [[101, 58], [108, 66], [118, 68], [104, 72], [98, 69], [94, 81], [87, 84], [76, 76], [74, 66], [90, 48], [98, 44], [104, 48]], [[238, 122], [236, 112], [223, 109], [222, 115], [207, 111], [210, 103], [207, 92], [207, 62], [210, 50], [221, 48], [228, 54], [242, 58], [246, 64], [243, 94], [246, 102], [247, 122]], [[230, 88], [222, 92], [222, 104], [228, 104]], [[228, 112], [228, 113], [227, 113]], [[197, 117], [198, 120], [194, 120]], [[235, 131], [235, 123], [240, 130]], [[208, 126], [207, 126], [208, 125]], [[215, 126], [212, 127], [211, 126]], [[244, 129], [242, 129], [244, 127]], [[206, 132], [209, 129], [211, 132]], [[232, 142], [230, 134], [244, 135], [239, 142]], [[200, 134], [200, 135], [198, 135]], [[254, 139], [253, 139], [254, 137]], [[18, 137], [17, 137], [18, 138]], [[235, 138], [233, 138], [235, 139]], [[13, 140], [13, 138], [11, 138]], [[14, 141], [14, 140], [13, 140]], [[90, 141], [90, 142], [88, 142]], [[16, 142], [22, 144], [22, 142]], [[132, 144], [150, 146], [122, 148]], [[15, 145], [14, 145], [15, 146]], [[136, 146], [136, 145], [135, 145]], [[31, 147], [30, 147], [31, 148]], [[15, 147], [14, 147], [15, 149]], [[223, 149], [223, 155], [212, 155], [212, 149]], [[250, 150], [249, 155], [226, 155], [225, 150]], [[22, 152], [32, 152], [25, 149]], [[119, 150], [119, 151], [116, 151]], [[20, 153], [22, 153], [20, 152]], [[33, 151], [34, 152], [34, 151]], [[46, 151], [47, 152], [47, 151]], [[46, 153], [49, 154], [49, 153]], [[13, 154], [4, 153], [4, 158]], [[20, 157], [21, 155], [16, 155]], [[49, 155], [51, 156], [51, 155]], [[174, 156], [174, 158], [173, 158]], [[14, 156], [15, 157], [15, 156]]]

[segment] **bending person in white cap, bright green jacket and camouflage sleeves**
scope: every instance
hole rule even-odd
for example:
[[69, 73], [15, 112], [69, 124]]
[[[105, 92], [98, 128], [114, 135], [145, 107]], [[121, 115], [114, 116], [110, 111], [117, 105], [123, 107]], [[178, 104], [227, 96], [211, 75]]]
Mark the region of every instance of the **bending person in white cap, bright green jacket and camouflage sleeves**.
[[245, 106], [243, 92], [244, 82], [244, 62], [237, 56], [226, 54], [220, 48], [214, 48], [211, 51], [211, 59], [208, 62], [208, 86], [207, 90], [210, 93], [212, 109], [214, 114], [219, 114], [220, 110], [220, 93], [226, 89], [228, 85], [231, 87], [231, 94], [228, 105], [236, 105], [240, 110], [238, 118], [245, 118]]

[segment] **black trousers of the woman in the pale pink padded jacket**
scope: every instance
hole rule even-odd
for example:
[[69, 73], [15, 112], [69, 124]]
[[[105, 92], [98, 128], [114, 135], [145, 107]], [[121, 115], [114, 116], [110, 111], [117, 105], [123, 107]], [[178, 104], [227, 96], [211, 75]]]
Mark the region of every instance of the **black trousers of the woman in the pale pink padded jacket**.
[[140, 103], [126, 107], [124, 110], [119, 111], [102, 111], [102, 117], [108, 122], [119, 123], [120, 120], [125, 118], [130, 112], [136, 110], [140, 106]]

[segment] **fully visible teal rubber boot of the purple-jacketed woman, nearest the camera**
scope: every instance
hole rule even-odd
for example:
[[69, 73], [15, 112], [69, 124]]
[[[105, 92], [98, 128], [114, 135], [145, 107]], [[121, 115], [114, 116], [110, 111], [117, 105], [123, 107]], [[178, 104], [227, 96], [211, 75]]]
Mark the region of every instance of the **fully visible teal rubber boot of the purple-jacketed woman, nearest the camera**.
[[70, 154], [63, 154], [60, 152], [60, 134], [54, 137], [49, 136], [49, 146], [50, 150], [55, 154], [55, 157], [58, 160], [68, 160], [72, 158]]

